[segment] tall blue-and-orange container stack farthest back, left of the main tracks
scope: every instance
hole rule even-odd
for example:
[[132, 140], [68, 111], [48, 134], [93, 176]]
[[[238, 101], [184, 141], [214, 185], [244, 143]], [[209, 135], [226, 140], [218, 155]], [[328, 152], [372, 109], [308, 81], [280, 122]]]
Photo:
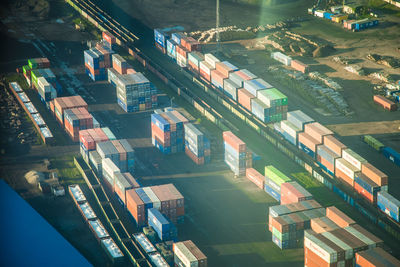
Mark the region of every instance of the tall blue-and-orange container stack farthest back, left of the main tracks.
[[102, 81], [107, 77], [107, 68], [112, 65], [111, 56], [114, 51], [104, 43], [96, 44], [96, 47], [85, 50], [85, 71], [93, 81]]

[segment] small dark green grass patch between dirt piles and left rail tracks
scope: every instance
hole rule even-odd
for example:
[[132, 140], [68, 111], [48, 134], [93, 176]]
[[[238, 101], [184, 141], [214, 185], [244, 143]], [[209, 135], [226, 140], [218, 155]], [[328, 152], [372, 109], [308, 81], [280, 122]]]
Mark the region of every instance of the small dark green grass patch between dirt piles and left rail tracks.
[[84, 184], [81, 174], [74, 165], [73, 155], [65, 155], [50, 159], [53, 168], [57, 169], [62, 185]]

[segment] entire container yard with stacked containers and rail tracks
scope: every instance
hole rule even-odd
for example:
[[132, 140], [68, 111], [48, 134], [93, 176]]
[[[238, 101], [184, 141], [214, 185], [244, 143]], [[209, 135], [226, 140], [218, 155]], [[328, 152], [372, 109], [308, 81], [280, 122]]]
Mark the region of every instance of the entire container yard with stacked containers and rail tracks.
[[[32, 31], [25, 32], [31, 37], [24, 44], [31, 52], [23, 60], [7, 58], [16, 74], [7, 74], [0, 86], [7, 85], [17, 106], [2, 108], [1, 125], [33, 124], [43, 142], [25, 144], [25, 154], [16, 147], [13, 157], [1, 150], [7, 182], [95, 266], [397, 266], [400, 147], [393, 86], [400, 77], [368, 65], [367, 72], [376, 73], [326, 78], [328, 66], [338, 68], [327, 63], [329, 53], [352, 48], [324, 40], [330, 34], [372, 38], [393, 27], [387, 15], [378, 22], [374, 13], [360, 13], [375, 12], [369, 6], [318, 2], [308, 10], [316, 18], [259, 22], [245, 30], [217, 26], [206, 40], [209, 19], [194, 28], [183, 21], [171, 26], [186, 21], [177, 7], [190, 14], [189, 2], [168, 4], [177, 21], [163, 24], [157, 10], [166, 3], [154, 3], [146, 22], [132, 18], [148, 3], [130, 13], [123, 0], [52, 5], [73, 15], [49, 23], [70, 27], [85, 41], [70, 33], [73, 41], [52, 42], [46, 39], [50, 29], [39, 32], [23, 23], [10, 29], [6, 36]], [[197, 5], [204, 15], [209, 12], [200, 8], [204, 3]], [[242, 17], [244, 26], [258, 9], [250, 12], [252, 4], [241, 3], [243, 16], [228, 16], [238, 5], [223, 3], [224, 24]], [[276, 8], [278, 17], [282, 10], [306, 8], [302, 0], [265, 5]], [[326, 34], [307, 32], [311, 24], [326, 27]], [[272, 39], [281, 29], [299, 45]], [[236, 33], [257, 38], [238, 41]], [[21, 37], [15, 42], [22, 44]], [[300, 44], [304, 40], [308, 48]], [[314, 46], [319, 50], [307, 50]], [[375, 58], [358, 56], [363, 59], [349, 62]], [[386, 63], [374, 64], [384, 70], [395, 66], [396, 58], [382, 58]], [[369, 90], [381, 78], [394, 79], [393, 88], [380, 84]], [[329, 97], [343, 97], [354, 112], [327, 112], [294, 89], [309, 83], [320, 88], [322, 99], [328, 97], [325, 86], [333, 88], [336, 81], [343, 87]], [[357, 83], [366, 93], [350, 92]], [[360, 133], [340, 130], [351, 123], [370, 126], [355, 126]], [[385, 125], [379, 132], [378, 124]], [[7, 133], [23, 140], [26, 129]], [[28, 169], [38, 180], [29, 180]], [[69, 196], [49, 198], [42, 185], [53, 179]]]

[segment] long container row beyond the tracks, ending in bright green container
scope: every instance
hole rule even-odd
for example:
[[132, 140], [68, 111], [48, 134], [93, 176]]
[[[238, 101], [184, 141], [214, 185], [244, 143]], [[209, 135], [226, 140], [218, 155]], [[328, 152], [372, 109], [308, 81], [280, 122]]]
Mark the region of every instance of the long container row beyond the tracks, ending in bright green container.
[[[160, 43], [155, 30], [156, 46]], [[167, 37], [163, 37], [167, 38]], [[181, 67], [203, 80], [250, 111], [262, 122], [277, 122], [286, 118], [287, 97], [272, 85], [246, 69], [239, 70], [229, 61], [220, 61], [212, 54], [202, 54], [198, 42], [182, 33], [167, 39], [166, 53]], [[164, 39], [163, 39], [164, 40]], [[190, 40], [190, 42], [188, 42]], [[289, 62], [290, 65], [290, 62]]]

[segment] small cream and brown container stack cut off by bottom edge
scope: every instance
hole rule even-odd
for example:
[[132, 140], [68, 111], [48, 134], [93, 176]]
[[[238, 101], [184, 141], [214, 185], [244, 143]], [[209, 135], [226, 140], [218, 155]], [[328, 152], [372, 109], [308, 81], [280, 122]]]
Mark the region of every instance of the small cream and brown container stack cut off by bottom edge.
[[172, 249], [175, 266], [207, 267], [207, 257], [191, 240], [174, 243]]

